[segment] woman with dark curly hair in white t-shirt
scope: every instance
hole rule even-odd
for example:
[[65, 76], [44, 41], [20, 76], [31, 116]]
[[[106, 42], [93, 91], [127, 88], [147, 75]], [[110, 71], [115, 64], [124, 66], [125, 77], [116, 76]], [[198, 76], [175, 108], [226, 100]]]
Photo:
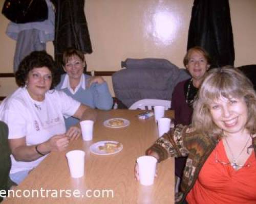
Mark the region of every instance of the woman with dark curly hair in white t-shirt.
[[10, 177], [19, 184], [51, 151], [65, 150], [80, 136], [80, 126], [66, 130], [64, 118], [96, 119], [95, 110], [66, 93], [58, 83], [53, 58], [45, 51], [25, 57], [15, 73], [19, 88], [0, 107], [0, 120], [9, 126], [12, 151]]

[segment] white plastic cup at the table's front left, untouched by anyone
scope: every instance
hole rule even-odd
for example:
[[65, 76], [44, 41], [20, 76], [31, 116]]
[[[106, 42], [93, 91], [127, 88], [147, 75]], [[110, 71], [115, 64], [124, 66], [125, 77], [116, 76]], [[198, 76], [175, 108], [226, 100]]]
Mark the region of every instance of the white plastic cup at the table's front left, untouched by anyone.
[[86, 153], [82, 150], [72, 150], [67, 152], [69, 170], [71, 177], [79, 178], [84, 174], [84, 156]]

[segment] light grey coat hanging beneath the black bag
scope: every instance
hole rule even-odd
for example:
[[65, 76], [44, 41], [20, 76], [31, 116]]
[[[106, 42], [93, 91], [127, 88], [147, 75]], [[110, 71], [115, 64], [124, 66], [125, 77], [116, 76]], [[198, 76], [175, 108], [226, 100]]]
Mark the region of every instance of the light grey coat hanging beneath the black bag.
[[[30, 2], [35, 3], [36, 1]], [[38, 1], [38, 4], [40, 4], [40, 2], [41, 1]], [[40, 19], [39, 21], [35, 21], [40, 17], [40, 15], [39, 17], [32, 17], [35, 13], [31, 12], [23, 18], [20, 18], [19, 16], [12, 16], [13, 20], [16, 21], [15, 18], [17, 18], [19, 23], [10, 22], [8, 24], [6, 34], [13, 40], [17, 41], [13, 60], [14, 72], [17, 71], [19, 63], [24, 57], [29, 55], [32, 51], [45, 50], [46, 43], [54, 40], [55, 15], [53, 6], [50, 0], [45, 0], [45, 3], [47, 4], [48, 15], [46, 20], [41, 21]], [[42, 10], [44, 10], [44, 5], [42, 5]], [[21, 21], [26, 23], [20, 23]]]

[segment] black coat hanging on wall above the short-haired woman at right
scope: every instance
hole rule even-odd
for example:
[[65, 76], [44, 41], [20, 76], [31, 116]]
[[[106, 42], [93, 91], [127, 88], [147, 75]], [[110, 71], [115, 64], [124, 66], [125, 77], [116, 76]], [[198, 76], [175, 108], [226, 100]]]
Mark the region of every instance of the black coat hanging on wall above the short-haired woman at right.
[[187, 49], [202, 46], [212, 67], [234, 64], [233, 33], [228, 0], [195, 0], [188, 31]]

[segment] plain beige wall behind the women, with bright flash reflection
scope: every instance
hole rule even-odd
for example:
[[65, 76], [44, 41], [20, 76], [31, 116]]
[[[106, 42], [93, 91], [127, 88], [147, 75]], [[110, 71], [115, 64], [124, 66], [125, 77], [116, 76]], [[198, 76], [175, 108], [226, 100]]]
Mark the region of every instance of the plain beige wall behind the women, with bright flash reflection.
[[[86, 0], [85, 13], [93, 53], [88, 70], [117, 71], [126, 58], [165, 58], [179, 67], [186, 51], [193, 0]], [[0, 8], [4, 0], [0, 0]], [[256, 1], [230, 0], [236, 52], [235, 66], [256, 64]], [[0, 15], [0, 72], [12, 72], [15, 41]], [[53, 55], [52, 42], [47, 44]], [[110, 77], [105, 78], [114, 95]], [[14, 79], [1, 79], [0, 96], [16, 89]]]

